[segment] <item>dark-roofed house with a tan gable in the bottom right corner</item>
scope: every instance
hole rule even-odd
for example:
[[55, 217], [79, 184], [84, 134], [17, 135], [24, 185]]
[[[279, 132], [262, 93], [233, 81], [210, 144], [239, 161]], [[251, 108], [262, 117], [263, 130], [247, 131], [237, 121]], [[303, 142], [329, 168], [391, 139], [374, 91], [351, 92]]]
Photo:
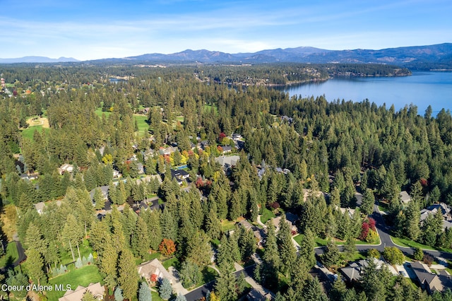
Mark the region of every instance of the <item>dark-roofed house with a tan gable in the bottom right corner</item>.
[[452, 288], [451, 276], [446, 271], [441, 271], [439, 274], [432, 273], [426, 264], [419, 261], [413, 262], [411, 268], [415, 272], [421, 288], [430, 294], [436, 290], [442, 292], [446, 288]]

